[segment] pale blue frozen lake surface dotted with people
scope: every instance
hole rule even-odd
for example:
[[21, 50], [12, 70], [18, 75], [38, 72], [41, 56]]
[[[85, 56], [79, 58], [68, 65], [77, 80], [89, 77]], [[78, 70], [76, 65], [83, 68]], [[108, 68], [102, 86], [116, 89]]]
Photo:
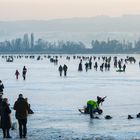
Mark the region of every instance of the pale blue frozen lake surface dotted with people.
[[[80, 60], [74, 60], [72, 56], [71, 60], [66, 60], [66, 55], [62, 55], [62, 58], [58, 58], [58, 65], [50, 63], [44, 55], [39, 61], [36, 58], [22, 58], [14, 59], [13, 63], [6, 62], [0, 56], [0, 79], [5, 86], [4, 97], [8, 97], [13, 106], [18, 94], [22, 93], [24, 97], [28, 97], [35, 112], [28, 118], [28, 139], [140, 139], [140, 119], [136, 118], [136, 114], [140, 112], [140, 56], [131, 55], [136, 58], [136, 63], [128, 63], [126, 72], [121, 73], [116, 72], [113, 61], [110, 71], [92, 69], [78, 72]], [[83, 66], [85, 62], [87, 61], [83, 61]], [[100, 60], [99, 63], [101, 62]], [[60, 64], [68, 66], [67, 77], [59, 76]], [[24, 65], [27, 67], [25, 81], [22, 79]], [[20, 72], [19, 80], [14, 75], [16, 69]], [[104, 113], [99, 116], [100, 120], [90, 119], [89, 115], [78, 112], [79, 108], [86, 105], [87, 100], [96, 99], [96, 96], [107, 96], [101, 106]], [[134, 119], [128, 120], [128, 114]], [[105, 115], [111, 115], [113, 119], [105, 120]], [[16, 121], [14, 111], [12, 120]], [[18, 139], [18, 131], [11, 131], [11, 135]]]

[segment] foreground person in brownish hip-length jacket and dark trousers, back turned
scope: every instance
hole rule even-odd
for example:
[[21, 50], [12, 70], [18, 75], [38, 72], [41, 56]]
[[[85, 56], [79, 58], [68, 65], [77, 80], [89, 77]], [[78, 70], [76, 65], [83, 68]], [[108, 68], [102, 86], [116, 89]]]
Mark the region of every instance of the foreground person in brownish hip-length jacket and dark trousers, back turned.
[[19, 94], [17, 101], [14, 104], [14, 110], [16, 110], [16, 119], [19, 124], [19, 136], [20, 138], [25, 138], [27, 134], [27, 116], [29, 105], [27, 101], [23, 98], [22, 94]]

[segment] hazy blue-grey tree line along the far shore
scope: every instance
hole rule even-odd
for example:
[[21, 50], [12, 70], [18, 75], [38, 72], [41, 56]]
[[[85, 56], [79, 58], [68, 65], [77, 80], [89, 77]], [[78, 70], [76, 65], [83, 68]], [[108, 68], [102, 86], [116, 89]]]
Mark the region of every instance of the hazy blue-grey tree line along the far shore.
[[140, 40], [133, 42], [110, 40], [92, 40], [91, 47], [79, 41], [57, 41], [49, 42], [38, 39], [34, 42], [34, 35], [31, 38], [28, 34], [24, 38], [17, 38], [11, 41], [0, 42], [0, 53], [139, 53]]

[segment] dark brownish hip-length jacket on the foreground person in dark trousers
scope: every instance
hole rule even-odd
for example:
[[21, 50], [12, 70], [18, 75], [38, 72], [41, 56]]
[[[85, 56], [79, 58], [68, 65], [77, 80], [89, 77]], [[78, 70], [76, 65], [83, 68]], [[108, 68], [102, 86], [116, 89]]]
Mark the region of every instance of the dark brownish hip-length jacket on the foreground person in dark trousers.
[[26, 119], [28, 116], [29, 105], [24, 98], [18, 98], [14, 104], [16, 119]]

